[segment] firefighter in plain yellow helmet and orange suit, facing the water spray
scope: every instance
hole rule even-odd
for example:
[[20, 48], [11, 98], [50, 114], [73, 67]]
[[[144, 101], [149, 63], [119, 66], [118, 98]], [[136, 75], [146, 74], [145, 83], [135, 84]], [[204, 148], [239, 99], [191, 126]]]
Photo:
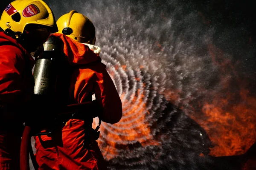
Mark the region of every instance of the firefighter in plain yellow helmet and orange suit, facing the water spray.
[[[70, 11], [57, 20], [58, 33], [52, 34], [63, 42], [63, 52], [72, 69], [59, 71], [56, 89], [68, 83], [69, 104], [90, 102], [94, 108], [79, 113], [59, 116], [62, 126], [51, 135], [35, 136], [35, 158], [41, 170], [106, 170], [107, 166], [93, 130], [94, 117], [115, 124], [122, 117], [122, 102], [116, 87], [99, 57], [95, 44], [95, 28], [91, 20], [77, 11]], [[70, 76], [67, 73], [70, 71]], [[60, 75], [62, 74], [62, 76]], [[63, 75], [64, 74], [64, 75]], [[64, 80], [65, 81], [65, 80]], [[61, 94], [66, 94], [62, 91]], [[92, 95], [95, 95], [93, 100]]]

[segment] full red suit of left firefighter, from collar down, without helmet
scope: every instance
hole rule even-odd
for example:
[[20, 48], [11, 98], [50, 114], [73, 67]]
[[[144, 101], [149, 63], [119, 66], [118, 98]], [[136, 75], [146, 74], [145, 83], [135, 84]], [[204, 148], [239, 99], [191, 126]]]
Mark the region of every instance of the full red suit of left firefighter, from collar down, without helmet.
[[0, 170], [20, 169], [21, 108], [33, 95], [33, 65], [31, 55], [0, 32]]

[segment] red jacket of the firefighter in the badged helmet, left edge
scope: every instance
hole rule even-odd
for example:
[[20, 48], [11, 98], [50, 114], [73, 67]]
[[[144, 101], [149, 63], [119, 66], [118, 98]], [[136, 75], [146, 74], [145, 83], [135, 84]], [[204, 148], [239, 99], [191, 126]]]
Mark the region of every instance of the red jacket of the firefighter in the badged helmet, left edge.
[[0, 101], [22, 105], [34, 94], [31, 55], [12, 37], [0, 32]]

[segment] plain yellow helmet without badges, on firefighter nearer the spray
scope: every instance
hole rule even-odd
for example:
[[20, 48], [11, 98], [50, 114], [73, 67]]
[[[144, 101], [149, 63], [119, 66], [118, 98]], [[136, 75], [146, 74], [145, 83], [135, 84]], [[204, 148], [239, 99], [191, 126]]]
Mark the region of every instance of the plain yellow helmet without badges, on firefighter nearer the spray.
[[95, 44], [95, 27], [91, 20], [77, 11], [70, 11], [57, 20], [58, 33], [81, 43]]

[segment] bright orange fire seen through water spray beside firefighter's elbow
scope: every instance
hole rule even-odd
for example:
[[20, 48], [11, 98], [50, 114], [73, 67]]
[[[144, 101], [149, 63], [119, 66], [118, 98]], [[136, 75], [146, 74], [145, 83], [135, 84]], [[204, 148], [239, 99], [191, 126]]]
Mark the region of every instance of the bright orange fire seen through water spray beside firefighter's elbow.
[[[106, 123], [100, 127], [103, 133], [102, 137], [105, 140], [99, 140], [99, 146], [102, 148], [102, 154], [106, 159], [112, 159], [113, 156], [118, 155], [117, 144], [131, 144], [140, 142], [144, 146], [157, 145], [158, 142], [153, 139], [151, 130], [146, 122], [146, 116], [150, 114], [146, 107], [146, 102], [143, 101], [144, 94], [142, 90], [138, 89], [136, 96], [130, 101], [123, 99], [123, 117], [120, 122], [114, 125]], [[96, 127], [96, 124], [93, 125]], [[101, 137], [101, 138], [102, 138]]]

